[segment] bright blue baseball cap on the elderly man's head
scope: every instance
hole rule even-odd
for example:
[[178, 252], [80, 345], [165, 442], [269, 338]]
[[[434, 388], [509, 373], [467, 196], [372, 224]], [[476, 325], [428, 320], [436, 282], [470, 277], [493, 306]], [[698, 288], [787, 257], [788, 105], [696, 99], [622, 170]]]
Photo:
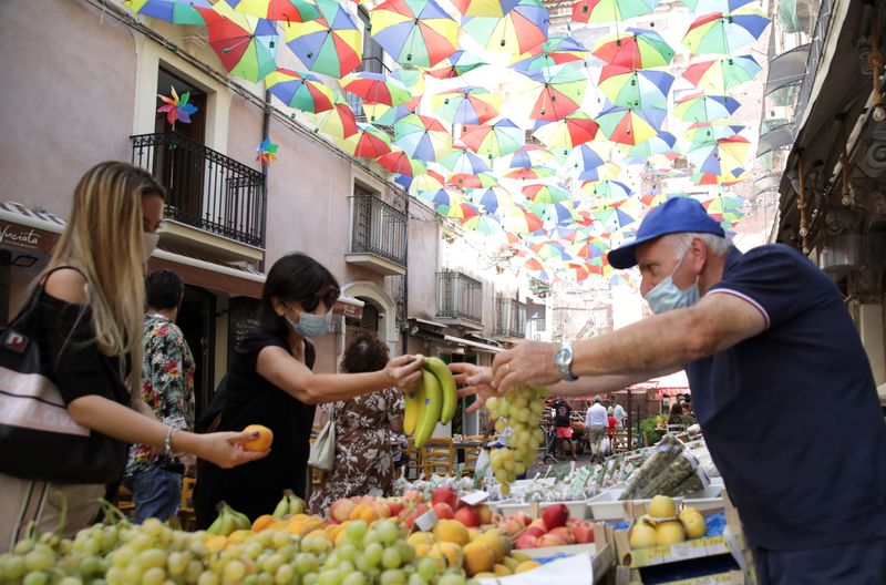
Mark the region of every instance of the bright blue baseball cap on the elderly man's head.
[[668, 234], [696, 232], [727, 237], [720, 223], [708, 215], [704, 207], [691, 197], [673, 197], [652, 209], [643, 217], [637, 237], [608, 254], [609, 264], [615, 268], [630, 268], [637, 265], [635, 250], [638, 244]]

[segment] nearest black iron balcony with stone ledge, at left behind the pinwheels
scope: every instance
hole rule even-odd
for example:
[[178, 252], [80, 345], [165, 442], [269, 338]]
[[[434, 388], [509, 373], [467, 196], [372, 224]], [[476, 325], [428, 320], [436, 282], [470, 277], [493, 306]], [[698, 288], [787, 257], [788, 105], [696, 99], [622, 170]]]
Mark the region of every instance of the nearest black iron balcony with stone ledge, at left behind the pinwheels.
[[260, 260], [265, 177], [175, 132], [131, 136], [132, 163], [167, 191], [163, 243], [227, 260]]

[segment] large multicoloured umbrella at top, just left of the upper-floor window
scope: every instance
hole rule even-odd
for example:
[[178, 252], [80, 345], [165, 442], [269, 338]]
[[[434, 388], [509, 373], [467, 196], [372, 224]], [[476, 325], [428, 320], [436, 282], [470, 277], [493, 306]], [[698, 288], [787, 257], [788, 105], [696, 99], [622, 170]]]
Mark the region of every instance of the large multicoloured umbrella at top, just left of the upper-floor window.
[[336, 0], [315, 1], [320, 18], [286, 23], [286, 44], [311, 71], [342, 78], [360, 65], [361, 28]]

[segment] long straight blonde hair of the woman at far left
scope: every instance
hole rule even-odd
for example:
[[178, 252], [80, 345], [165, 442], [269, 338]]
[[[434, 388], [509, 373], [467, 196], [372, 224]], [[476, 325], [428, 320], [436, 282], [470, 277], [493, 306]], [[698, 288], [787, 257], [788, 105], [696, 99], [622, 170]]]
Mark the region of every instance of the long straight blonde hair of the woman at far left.
[[145, 310], [143, 195], [166, 198], [163, 185], [143, 168], [110, 161], [86, 171], [44, 270], [74, 266], [83, 273], [99, 350], [120, 358], [121, 377], [128, 365], [134, 397], [140, 396]]

